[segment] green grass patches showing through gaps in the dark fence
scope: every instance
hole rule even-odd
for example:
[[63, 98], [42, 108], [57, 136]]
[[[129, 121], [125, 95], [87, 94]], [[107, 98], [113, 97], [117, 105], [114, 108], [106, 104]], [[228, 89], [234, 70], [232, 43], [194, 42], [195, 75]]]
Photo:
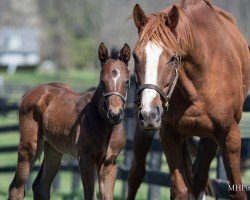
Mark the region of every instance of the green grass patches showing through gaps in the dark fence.
[[[12, 118], [13, 115], [10, 115], [9, 117]], [[250, 119], [249, 114], [244, 114], [244, 118], [242, 123], [245, 123], [247, 125], [247, 121]], [[8, 121], [9, 119], [6, 119]], [[16, 122], [16, 120], [15, 120]], [[3, 121], [1, 121], [0, 126], [4, 124]], [[244, 125], [244, 127], [245, 127]], [[242, 126], [242, 125], [241, 125]], [[247, 129], [246, 129], [247, 130]], [[245, 131], [246, 131], [245, 130]], [[8, 145], [13, 145], [17, 144], [19, 140], [19, 135], [17, 133], [12, 133], [12, 134], [4, 134], [1, 135], [1, 140], [0, 140], [0, 146], [8, 146]], [[118, 164], [121, 164], [123, 162], [123, 157], [122, 155], [118, 159]], [[41, 163], [41, 161], [38, 161], [38, 164]], [[9, 153], [9, 154], [0, 154], [0, 166], [8, 166], [8, 165], [15, 165], [16, 164], [16, 153]], [[163, 156], [163, 164], [162, 164], [162, 170], [163, 172], [168, 172], [168, 167], [166, 164], [165, 157]], [[0, 174], [0, 199], [6, 199], [7, 198], [7, 190], [9, 183], [11, 182], [12, 178], [14, 176], [14, 173], [7, 173], [7, 174]], [[34, 179], [36, 176], [36, 172], [32, 173], [32, 178]], [[214, 160], [211, 164], [210, 167], [210, 178], [215, 178], [216, 177], [216, 160]], [[78, 188], [76, 193], [72, 193], [71, 191], [71, 173], [69, 172], [60, 172], [60, 189], [57, 192], [54, 192], [52, 190], [51, 194], [52, 200], [61, 200], [61, 199], [82, 199], [82, 188], [81, 186]], [[243, 176], [243, 183], [248, 183], [250, 180], [250, 171], [248, 170], [244, 176]], [[124, 188], [124, 182], [117, 180], [116, 186], [115, 186], [115, 199], [116, 200], [122, 200], [122, 191]], [[138, 200], [144, 200], [147, 199], [147, 190], [148, 190], [148, 185], [147, 184], [142, 184], [138, 193], [137, 193], [137, 198]], [[26, 198], [27, 200], [32, 199], [32, 193], [31, 191], [27, 192]], [[161, 187], [161, 198], [160, 199], [169, 199], [169, 188]]]

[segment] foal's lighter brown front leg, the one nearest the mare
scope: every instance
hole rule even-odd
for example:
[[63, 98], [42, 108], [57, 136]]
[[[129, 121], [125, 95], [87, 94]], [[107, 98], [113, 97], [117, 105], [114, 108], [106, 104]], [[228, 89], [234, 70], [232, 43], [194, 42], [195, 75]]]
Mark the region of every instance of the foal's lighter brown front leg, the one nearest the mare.
[[98, 169], [98, 183], [102, 200], [113, 199], [116, 175], [115, 157], [110, 157]]

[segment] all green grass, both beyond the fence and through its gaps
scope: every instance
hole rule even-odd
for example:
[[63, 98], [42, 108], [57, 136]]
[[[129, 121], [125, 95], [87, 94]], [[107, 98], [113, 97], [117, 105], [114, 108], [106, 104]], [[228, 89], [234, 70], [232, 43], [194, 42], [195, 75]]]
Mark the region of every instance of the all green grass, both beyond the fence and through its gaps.
[[[84, 91], [88, 87], [96, 86], [99, 80], [99, 71], [95, 70], [82, 70], [82, 71], [61, 71], [57, 74], [47, 74], [41, 72], [17, 72], [14, 75], [8, 75], [6, 73], [0, 73], [0, 76], [4, 77], [6, 84], [15, 84], [17, 86], [34, 86], [45, 84], [49, 82], [62, 82], [68, 84], [70, 87], [77, 89], [78, 91]], [[20, 99], [23, 92], [16, 92], [16, 99]], [[250, 136], [250, 113], [243, 113], [243, 118], [240, 123], [241, 135]], [[16, 112], [11, 112], [6, 115], [0, 115], [0, 127], [10, 124], [18, 123], [18, 115]], [[18, 133], [9, 133], [1, 135], [0, 146], [17, 145], [19, 141]], [[16, 165], [16, 153], [0, 154], [0, 166], [15, 166]], [[148, 158], [149, 160], [150, 158]], [[64, 162], [68, 160], [68, 157], [64, 159]], [[122, 164], [124, 157], [122, 155], [118, 158], [118, 164]], [[38, 161], [41, 163], [41, 161]], [[166, 159], [163, 156], [161, 171], [168, 172], [168, 166]], [[36, 177], [36, 172], [32, 173], [32, 179]], [[7, 199], [8, 186], [14, 176], [14, 173], [0, 174], [0, 199]], [[216, 160], [214, 160], [210, 167], [210, 178], [216, 178]], [[77, 189], [76, 193], [71, 191], [72, 174], [69, 172], [60, 172], [60, 189], [56, 192], [52, 190], [52, 200], [78, 200], [82, 199], [82, 187]], [[243, 175], [243, 183], [248, 183], [250, 180], [250, 170], [247, 170]], [[114, 196], [116, 200], [124, 199], [122, 197], [124, 182], [121, 180], [116, 181]], [[147, 199], [148, 185], [142, 184], [137, 193], [136, 199]], [[27, 191], [25, 200], [31, 200], [32, 193]], [[169, 188], [161, 187], [160, 199], [169, 199]]]

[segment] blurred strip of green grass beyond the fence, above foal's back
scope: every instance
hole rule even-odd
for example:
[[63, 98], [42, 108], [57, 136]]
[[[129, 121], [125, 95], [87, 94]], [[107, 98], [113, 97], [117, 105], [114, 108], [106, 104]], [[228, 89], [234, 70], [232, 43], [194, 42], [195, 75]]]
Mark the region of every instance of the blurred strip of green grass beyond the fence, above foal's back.
[[99, 70], [64, 70], [53, 74], [39, 71], [17, 71], [13, 75], [0, 72], [0, 77], [4, 79], [4, 84], [8, 88], [11, 88], [5, 91], [4, 94], [0, 91], [0, 95], [4, 98], [8, 98], [10, 102], [16, 102], [21, 99], [28, 89], [52, 82], [64, 83], [77, 92], [83, 92], [89, 87], [97, 86], [99, 81]]

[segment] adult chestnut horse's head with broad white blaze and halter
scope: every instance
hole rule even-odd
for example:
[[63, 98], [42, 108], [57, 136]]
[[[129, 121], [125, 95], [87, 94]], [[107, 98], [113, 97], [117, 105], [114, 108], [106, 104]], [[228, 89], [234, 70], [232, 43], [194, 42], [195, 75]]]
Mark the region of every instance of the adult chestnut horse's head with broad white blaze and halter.
[[[145, 129], [157, 129], [178, 79], [181, 58], [192, 43], [180, 6], [146, 16], [137, 4], [133, 19], [139, 39], [133, 56], [138, 85], [138, 118]], [[187, 32], [190, 32], [188, 34]]]

